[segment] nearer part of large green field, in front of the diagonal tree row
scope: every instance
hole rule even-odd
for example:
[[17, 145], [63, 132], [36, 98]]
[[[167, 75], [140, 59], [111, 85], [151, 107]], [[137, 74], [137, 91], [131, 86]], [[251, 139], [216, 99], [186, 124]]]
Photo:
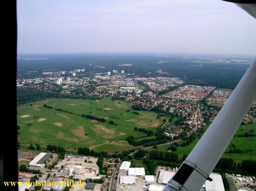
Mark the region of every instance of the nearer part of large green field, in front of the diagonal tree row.
[[[145, 134], [45, 107], [37, 107], [36, 110], [35, 108], [36, 106], [18, 109], [20, 143], [39, 143], [41, 146], [55, 144], [74, 149], [92, 147], [109, 141], [123, 141], [130, 135], [137, 137]], [[85, 133], [89, 135], [86, 136]]]

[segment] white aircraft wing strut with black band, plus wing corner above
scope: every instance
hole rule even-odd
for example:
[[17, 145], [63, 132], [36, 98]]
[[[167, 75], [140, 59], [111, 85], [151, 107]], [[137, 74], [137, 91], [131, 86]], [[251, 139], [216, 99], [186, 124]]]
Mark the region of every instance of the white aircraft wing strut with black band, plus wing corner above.
[[[256, 18], [254, 1], [225, 0], [233, 2]], [[246, 3], [245, 3], [246, 2]], [[226, 104], [213, 120], [175, 175], [163, 191], [200, 190], [226, 150], [244, 116], [256, 98], [256, 59], [248, 68]]]

